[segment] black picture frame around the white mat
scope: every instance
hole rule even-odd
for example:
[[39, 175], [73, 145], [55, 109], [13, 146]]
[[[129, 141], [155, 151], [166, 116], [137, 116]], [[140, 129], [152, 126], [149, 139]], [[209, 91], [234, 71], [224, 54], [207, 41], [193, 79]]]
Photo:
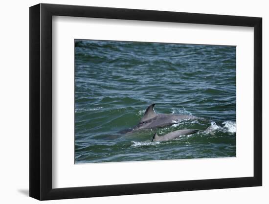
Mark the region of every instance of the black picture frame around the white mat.
[[[52, 188], [52, 16], [254, 27], [254, 176]], [[30, 7], [30, 197], [116, 196], [262, 185], [262, 18], [59, 4]]]

